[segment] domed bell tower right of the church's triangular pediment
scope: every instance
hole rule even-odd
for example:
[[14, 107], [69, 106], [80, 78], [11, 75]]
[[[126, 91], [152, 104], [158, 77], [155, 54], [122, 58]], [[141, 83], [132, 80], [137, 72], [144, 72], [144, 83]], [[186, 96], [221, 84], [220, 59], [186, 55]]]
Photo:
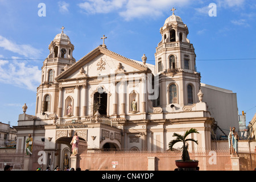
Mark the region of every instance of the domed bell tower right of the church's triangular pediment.
[[[169, 16], [160, 28], [162, 40], [155, 53], [155, 73], [166, 82], [161, 82], [159, 106], [191, 105], [197, 102], [200, 89], [200, 73], [196, 71], [196, 54], [190, 43], [188, 27], [180, 16]], [[163, 85], [163, 84], [166, 85]], [[162, 84], [162, 85], [161, 85]], [[167, 89], [168, 94], [166, 94]], [[164, 96], [164, 94], [166, 96]]]

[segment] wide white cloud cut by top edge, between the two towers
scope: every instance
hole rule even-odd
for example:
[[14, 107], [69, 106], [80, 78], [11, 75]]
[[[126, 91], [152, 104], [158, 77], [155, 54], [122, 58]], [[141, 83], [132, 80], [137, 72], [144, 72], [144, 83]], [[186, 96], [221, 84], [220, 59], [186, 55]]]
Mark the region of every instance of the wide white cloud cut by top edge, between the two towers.
[[163, 10], [172, 6], [184, 6], [189, 0], [88, 0], [79, 7], [88, 14], [116, 12], [125, 20], [133, 18], [156, 18]]

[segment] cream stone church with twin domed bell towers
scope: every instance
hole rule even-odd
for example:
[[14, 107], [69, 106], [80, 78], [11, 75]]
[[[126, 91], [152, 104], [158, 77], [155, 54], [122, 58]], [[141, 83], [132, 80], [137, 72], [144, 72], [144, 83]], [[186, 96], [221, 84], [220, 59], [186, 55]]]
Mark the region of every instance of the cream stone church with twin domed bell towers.
[[[76, 61], [74, 46], [61, 29], [43, 62], [35, 115], [26, 110], [19, 115], [15, 127], [18, 150], [31, 134], [34, 140], [43, 141], [47, 164], [63, 166], [65, 155], [71, 155], [75, 133], [80, 152], [109, 148], [165, 151], [174, 133], [191, 128], [199, 131], [191, 135], [199, 144], [189, 147], [212, 148], [218, 113], [209, 111], [212, 107], [204, 100], [214, 101], [204, 92], [213, 88], [201, 86], [195, 49], [179, 16], [173, 13], [160, 28], [155, 65], [147, 63], [146, 55], [138, 61], [110, 51], [105, 35], [102, 45]], [[236, 97], [230, 99], [236, 102]], [[238, 128], [234, 114], [229, 118], [218, 121], [218, 126], [227, 122]], [[53, 162], [49, 156], [55, 156]]]

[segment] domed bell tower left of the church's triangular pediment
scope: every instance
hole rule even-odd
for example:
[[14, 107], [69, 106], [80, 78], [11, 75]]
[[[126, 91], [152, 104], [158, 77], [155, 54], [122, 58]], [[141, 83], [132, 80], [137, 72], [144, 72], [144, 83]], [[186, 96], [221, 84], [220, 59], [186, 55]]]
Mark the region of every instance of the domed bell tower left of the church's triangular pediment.
[[41, 84], [36, 99], [38, 117], [45, 118], [46, 115], [48, 117], [49, 114], [57, 113], [59, 85], [55, 82], [55, 77], [76, 63], [72, 55], [74, 46], [63, 30], [64, 27], [61, 27], [61, 33], [49, 44], [49, 55], [43, 62]]

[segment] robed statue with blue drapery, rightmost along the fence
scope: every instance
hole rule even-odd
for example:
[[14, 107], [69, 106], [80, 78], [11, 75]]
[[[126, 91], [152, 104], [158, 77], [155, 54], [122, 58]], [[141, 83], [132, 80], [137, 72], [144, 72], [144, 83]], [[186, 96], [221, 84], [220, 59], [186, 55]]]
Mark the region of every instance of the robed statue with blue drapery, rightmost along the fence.
[[236, 127], [233, 127], [229, 132], [229, 152], [230, 155], [237, 155], [238, 154], [238, 134], [236, 132]]

